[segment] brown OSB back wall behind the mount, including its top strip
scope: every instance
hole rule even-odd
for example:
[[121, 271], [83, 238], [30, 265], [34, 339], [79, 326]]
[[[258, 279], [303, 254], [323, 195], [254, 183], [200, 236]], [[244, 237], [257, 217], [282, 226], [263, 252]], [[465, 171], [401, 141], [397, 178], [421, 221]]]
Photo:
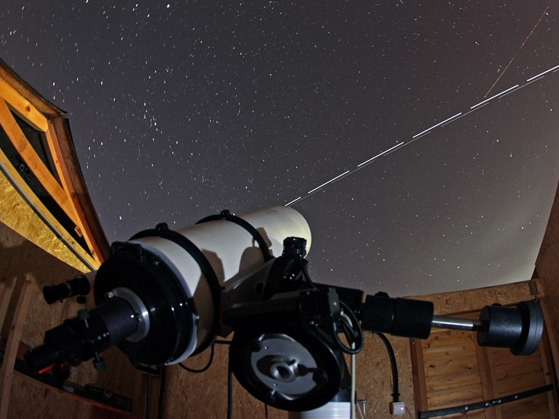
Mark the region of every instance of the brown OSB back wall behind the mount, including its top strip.
[[[535, 282], [538, 284], [538, 281]], [[541, 284], [539, 287], [540, 289], [543, 288]], [[436, 314], [456, 315], [467, 311], [480, 310], [484, 306], [495, 302], [514, 304], [523, 300], [532, 300], [534, 295], [530, 291], [529, 282], [525, 281], [517, 284], [416, 298], [433, 301]], [[462, 332], [462, 334], [473, 343], [475, 336], [472, 333]], [[394, 347], [398, 361], [400, 399], [405, 402], [406, 406], [406, 413], [400, 418], [416, 418], [414, 372], [412, 370], [410, 346], [421, 345], [421, 341], [400, 337], [389, 337], [389, 340]], [[168, 367], [163, 418], [175, 418], [180, 414], [184, 418], [199, 418], [204, 416], [204, 412], [206, 412], [206, 417], [226, 417], [227, 354], [227, 346], [217, 345], [212, 367], [203, 374], [192, 374], [177, 366]], [[184, 364], [195, 369], [201, 368], [207, 362], [208, 356], [209, 351], [206, 351], [190, 358]], [[264, 417], [264, 405], [243, 390], [234, 378], [233, 383], [233, 417]], [[365, 399], [367, 402], [367, 417], [375, 419], [393, 418], [389, 413], [392, 393], [389, 357], [382, 341], [369, 332], [366, 332], [365, 348], [357, 356], [356, 387], [357, 398]], [[270, 419], [289, 417], [287, 412], [271, 408], [268, 409], [268, 414]]]

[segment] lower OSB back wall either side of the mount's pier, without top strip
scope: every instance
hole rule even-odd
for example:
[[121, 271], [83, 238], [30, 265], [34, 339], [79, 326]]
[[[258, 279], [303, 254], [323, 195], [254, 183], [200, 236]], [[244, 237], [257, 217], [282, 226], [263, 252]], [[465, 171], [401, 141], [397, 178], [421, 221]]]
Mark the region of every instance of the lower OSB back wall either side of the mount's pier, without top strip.
[[[400, 418], [414, 418], [412, 367], [409, 341], [389, 337], [398, 362], [400, 400], [406, 413]], [[209, 356], [205, 351], [184, 362], [191, 368], [203, 367]], [[376, 335], [365, 332], [365, 348], [356, 357], [356, 392], [367, 401], [367, 416], [393, 418], [389, 413], [392, 400], [392, 376], [386, 347]], [[228, 347], [216, 345], [212, 366], [202, 374], [186, 372], [178, 366], [167, 367], [163, 418], [224, 418], [227, 413]], [[264, 417], [264, 404], [244, 390], [233, 378], [233, 418]], [[289, 413], [268, 408], [268, 418], [287, 419]]]

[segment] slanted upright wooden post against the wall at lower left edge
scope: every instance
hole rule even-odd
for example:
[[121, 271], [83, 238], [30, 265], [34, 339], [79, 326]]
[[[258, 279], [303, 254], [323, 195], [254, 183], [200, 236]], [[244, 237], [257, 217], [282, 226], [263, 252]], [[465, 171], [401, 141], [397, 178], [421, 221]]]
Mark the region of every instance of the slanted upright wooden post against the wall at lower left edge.
[[11, 321], [10, 332], [6, 341], [6, 351], [2, 367], [0, 369], [0, 419], [8, 419], [8, 404], [10, 402], [10, 391], [12, 389], [12, 379], [14, 374], [14, 363], [17, 357], [17, 348], [20, 346], [23, 325], [27, 314], [27, 307], [31, 301], [33, 288], [31, 276], [28, 274], [23, 281], [20, 295]]

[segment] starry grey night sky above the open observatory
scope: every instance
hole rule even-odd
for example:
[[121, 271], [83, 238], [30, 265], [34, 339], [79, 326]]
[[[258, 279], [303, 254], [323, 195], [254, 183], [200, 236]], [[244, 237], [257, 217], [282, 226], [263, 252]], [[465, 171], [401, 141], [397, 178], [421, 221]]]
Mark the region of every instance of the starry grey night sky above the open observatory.
[[291, 203], [314, 281], [530, 279], [559, 177], [556, 2], [115, 3], [0, 9], [0, 57], [68, 112], [110, 242]]

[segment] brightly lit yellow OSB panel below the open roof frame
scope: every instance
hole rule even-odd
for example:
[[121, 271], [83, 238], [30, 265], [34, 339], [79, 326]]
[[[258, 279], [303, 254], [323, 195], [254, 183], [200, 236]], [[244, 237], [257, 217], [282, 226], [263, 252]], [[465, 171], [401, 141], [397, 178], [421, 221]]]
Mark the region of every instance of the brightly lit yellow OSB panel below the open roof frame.
[[[14, 253], [20, 243], [26, 239], [45, 249], [68, 265], [75, 267], [80, 272], [88, 272], [86, 267], [69, 249], [61, 242], [55, 233], [43, 223], [39, 216], [27, 205], [24, 199], [14, 189], [3, 173], [0, 172], [0, 223], [2, 228], [9, 226], [17, 231], [21, 237], [8, 242], [0, 233], [0, 250], [2, 260], [4, 253]], [[15, 249], [13, 249], [15, 248]]]

